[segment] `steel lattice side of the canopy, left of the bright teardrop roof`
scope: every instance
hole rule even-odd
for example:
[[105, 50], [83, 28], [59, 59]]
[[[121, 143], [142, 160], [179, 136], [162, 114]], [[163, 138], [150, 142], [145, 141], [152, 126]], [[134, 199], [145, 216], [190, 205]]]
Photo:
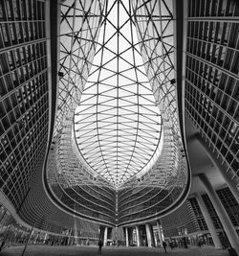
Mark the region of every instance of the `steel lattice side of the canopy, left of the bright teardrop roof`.
[[[102, 2], [102, 1], [101, 1]], [[55, 132], [76, 107], [96, 51], [102, 5], [100, 1], [62, 1], [59, 31], [59, 84]]]

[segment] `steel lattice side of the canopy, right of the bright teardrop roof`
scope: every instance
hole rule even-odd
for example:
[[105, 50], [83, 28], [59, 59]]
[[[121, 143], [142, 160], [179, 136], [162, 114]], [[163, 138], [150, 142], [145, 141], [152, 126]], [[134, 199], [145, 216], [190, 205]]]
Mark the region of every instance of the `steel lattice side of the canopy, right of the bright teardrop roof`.
[[132, 1], [141, 55], [157, 105], [180, 137], [175, 81], [172, 1]]

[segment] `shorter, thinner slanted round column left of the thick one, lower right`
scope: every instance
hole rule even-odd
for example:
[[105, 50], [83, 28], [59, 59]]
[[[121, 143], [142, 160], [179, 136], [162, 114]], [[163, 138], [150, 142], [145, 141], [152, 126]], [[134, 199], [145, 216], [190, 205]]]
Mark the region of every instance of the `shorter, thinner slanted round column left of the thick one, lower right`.
[[215, 248], [216, 249], [220, 249], [222, 248], [222, 243], [217, 235], [217, 232], [216, 232], [216, 229], [213, 225], [213, 222], [211, 221], [211, 218], [210, 218], [210, 215], [206, 209], [206, 205], [205, 205], [205, 202], [203, 200], [203, 198], [199, 195], [199, 194], [196, 194], [196, 199], [198, 201], [198, 204], [199, 204], [199, 207], [203, 213], [203, 216], [205, 218], [205, 221], [206, 221], [206, 225], [208, 227], [208, 230], [210, 232], [210, 235], [211, 235], [211, 238], [213, 240], [213, 243], [215, 244]]

